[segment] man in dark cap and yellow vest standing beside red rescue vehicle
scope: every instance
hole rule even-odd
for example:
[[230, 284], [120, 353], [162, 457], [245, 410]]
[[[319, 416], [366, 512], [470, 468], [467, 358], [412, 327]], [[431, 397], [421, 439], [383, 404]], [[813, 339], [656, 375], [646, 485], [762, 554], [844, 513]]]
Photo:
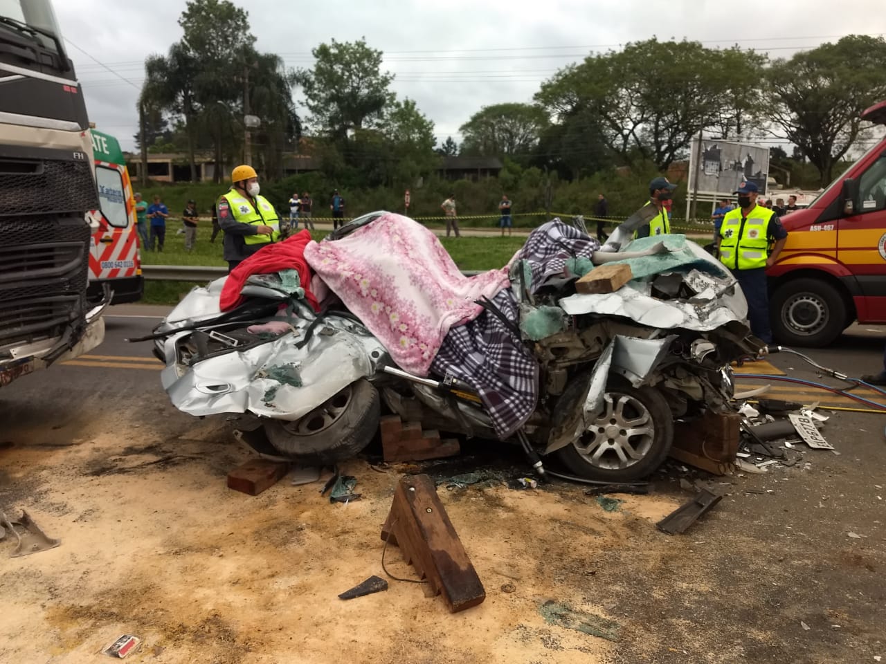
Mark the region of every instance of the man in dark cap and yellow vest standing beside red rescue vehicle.
[[773, 210], [757, 205], [756, 184], [742, 182], [735, 193], [738, 207], [727, 212], [720, 225], [719, 259], [742, 286], [748, 300], [750, 331], [766, 344], [772, 344], [766, 267], [775, 264], [788, 240], [788, 231]]

